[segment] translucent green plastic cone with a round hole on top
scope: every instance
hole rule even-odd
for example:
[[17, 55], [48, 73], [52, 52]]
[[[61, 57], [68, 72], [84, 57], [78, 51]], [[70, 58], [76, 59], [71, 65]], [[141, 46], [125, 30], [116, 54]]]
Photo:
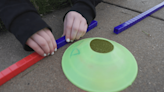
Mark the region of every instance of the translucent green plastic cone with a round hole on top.
[[70, 82], [89, 92], [122, 91], [133, 83], [138, 72], [137, 62], [128, 49], [99, 37], [68, 47], [62, 68]]

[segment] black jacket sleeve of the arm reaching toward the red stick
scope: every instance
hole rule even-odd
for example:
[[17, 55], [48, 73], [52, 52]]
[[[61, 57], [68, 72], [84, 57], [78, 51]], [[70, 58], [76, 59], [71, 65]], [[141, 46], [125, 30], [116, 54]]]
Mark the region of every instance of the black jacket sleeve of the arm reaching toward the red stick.
[[0, 18], [25, 50], [32, 50], [26, 45], [29, 37], [43, 28], [50, 29], [29, 0], [0, 0]]

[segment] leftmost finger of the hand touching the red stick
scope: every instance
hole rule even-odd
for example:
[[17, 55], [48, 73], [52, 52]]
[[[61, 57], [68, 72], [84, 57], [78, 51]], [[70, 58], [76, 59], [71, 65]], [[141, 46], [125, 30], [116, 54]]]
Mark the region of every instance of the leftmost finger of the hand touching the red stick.
[[44, 53], [44, 51], [40, 48], [40, 46], [33, 41], [31, 38], [29, 38], [26, 42], [26, 44], [28, 46], [30, 46], [35, 52], [37, 52], [39, 55], [41, 56], [46, 56], [46, 54]]

